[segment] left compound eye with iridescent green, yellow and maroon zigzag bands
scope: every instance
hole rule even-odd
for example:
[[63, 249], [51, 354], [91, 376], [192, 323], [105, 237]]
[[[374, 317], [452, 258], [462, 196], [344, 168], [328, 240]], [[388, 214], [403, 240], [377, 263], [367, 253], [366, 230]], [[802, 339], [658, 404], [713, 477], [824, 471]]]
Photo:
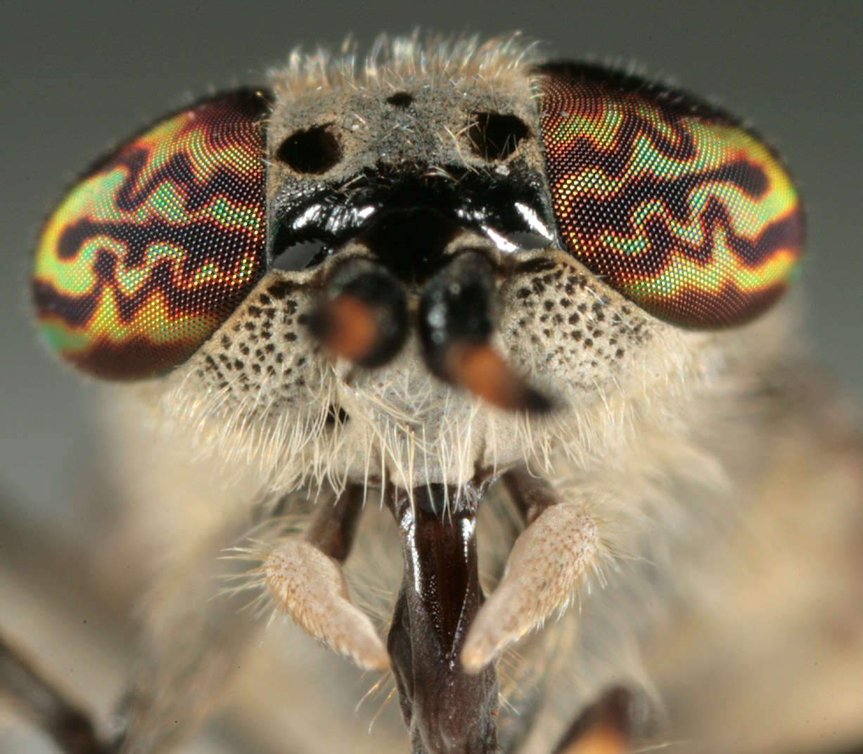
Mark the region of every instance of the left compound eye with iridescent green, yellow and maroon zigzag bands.
[[112, 380], [189, 358], [265, 272], [268, 99], [231, 91], [145, 129], [72, 186], [41, 229], [42, 336]]

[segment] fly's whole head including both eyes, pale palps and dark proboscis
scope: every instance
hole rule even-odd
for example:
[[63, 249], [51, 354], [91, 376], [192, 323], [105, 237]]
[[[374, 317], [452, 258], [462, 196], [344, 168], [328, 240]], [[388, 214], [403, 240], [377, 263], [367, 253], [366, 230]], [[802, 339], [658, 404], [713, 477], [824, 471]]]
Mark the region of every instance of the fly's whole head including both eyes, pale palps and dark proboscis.
[[[399, 42], [360, 70], [295, 56], [145, 129], [49, 218], [33, 290], [55, 351], [150, 379], [249, 499], [331, 488], [304, 537], [255, 550], [257, 582], [393, 669], [413, 751], [521, 751], [541, 701], [499, 735], [497, 659], [602, 562], [651, 556], [646, 519], [679, 523], [680, 459], [721, 456], [699, 432], [722, 381], [775, 358], [782, 315], [756, 320], [802, 227], [777, 155], [695, 97]], [[373, 495], [404, 556], [386, 641], [341, 570]], [[494, 495], [524, 531], [486, 600]]]

